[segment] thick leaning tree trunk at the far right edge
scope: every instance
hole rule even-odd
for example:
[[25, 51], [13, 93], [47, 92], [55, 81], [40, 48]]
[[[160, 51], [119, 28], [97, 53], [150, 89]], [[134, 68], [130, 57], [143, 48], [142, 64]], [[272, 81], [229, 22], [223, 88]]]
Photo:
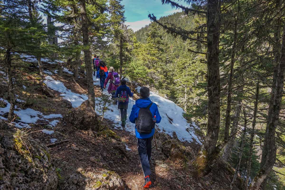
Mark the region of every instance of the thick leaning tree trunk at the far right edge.
[[278, 69], [274, 69], [273, 74], [276, 76], [276, 80], [272, 85], [272, 92], [270, 97], [270, 105], [268, 111], [268, 118], [266, 124], [266, 131], [264, 136], [264, 145], [262, 148], [262, 157], [260, 163], [260, 170], [258, 171], [256, 177], [249, 189], [255, 190], [261, 185], [261, 183], [266, 179], [270, 173], [272, 167], [274, 166], [276, 160], [276, 139], [275, 130], [278, 125], [281, 100], [283, 94], [284, 85], [284, 71], [285, 71], [285, 26], [283, 26], [283, 37], [280, 58], [278, 59]]

